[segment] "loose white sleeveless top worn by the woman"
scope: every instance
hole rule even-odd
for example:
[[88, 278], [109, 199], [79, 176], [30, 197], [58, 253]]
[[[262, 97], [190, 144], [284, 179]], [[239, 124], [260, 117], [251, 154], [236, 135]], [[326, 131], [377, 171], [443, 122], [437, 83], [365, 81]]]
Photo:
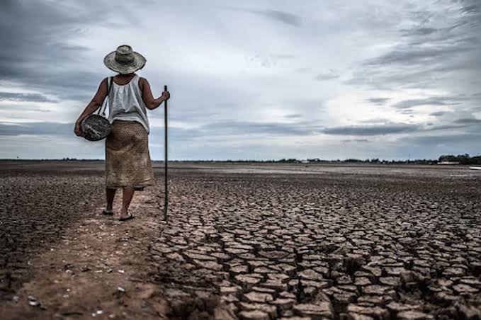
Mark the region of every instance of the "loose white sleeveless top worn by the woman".
[[[140, 122], [149, 133], [149, 119], [147, 108], [142, 100], [142, 91], [139, 87], [139, 76], [135, 76], [128, 84], [121, 86], [113, 81], [111, 92], [108, 93], [108, 120], [112, 123], [115, 120]], [[111, 78], [108, 77], [107, 84], [110, 87]]]

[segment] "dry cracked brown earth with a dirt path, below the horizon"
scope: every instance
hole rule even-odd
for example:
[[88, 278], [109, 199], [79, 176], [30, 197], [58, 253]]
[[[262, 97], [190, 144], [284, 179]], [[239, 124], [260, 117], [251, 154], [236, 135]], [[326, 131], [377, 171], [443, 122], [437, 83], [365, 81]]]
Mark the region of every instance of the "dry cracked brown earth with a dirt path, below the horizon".
[[481, 319], [479, 171], [172, 164], [164, 221], [154, 167], [120, 222], [101, 163], [3, 161], [1, 319]]

